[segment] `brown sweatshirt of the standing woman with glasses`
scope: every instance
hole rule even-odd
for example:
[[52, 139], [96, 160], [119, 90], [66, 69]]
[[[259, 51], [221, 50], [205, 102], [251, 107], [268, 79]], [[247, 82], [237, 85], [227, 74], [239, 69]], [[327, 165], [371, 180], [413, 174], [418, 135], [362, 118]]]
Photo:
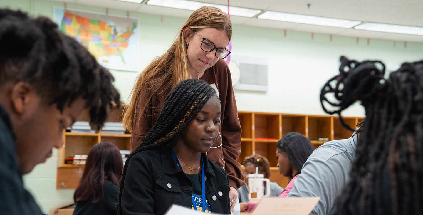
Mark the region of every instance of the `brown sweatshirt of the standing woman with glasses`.
[[[239, 188], [244, 185], [241, 164], [237, 161], [241, 153], [241, 124], [238, 119], [238, 109], [228, 65], [225, 61], [219, 60], [214, 66], [207, 69], [200, 79], [212, 87], [216, 86], [222, 105], [220, 137], [214, 141], [213, 146], [207, 152], [207, 157], [225, 169], [230, 187]], [[153, 127], [170, 91], [171, 89], [163, 89], [160, 92], [154, 92], [151, 104], [146, 108], [140, 121], [132, 121], [131, 151], [134, 151], [142, 143], [144, 136]], [[151, 93], [148, 85], [143, 88], [139, 95], [141, 107], [138, 108], [142, 108], [142, 105], [145, 104], [143, 101], [147, 102], [148, 95]], [[138, 117], [133, 117], [133, 119], [138, 119]]]

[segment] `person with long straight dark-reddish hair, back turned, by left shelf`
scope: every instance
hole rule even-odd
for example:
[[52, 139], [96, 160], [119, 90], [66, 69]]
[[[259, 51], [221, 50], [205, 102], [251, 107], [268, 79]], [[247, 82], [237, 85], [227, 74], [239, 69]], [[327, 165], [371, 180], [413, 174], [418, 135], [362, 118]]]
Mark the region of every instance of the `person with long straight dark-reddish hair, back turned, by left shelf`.
[[123, 161], [117, 146], [97, 143], [88, 153], [80, 184], [74, 193], [73, 215], [116, 215]]

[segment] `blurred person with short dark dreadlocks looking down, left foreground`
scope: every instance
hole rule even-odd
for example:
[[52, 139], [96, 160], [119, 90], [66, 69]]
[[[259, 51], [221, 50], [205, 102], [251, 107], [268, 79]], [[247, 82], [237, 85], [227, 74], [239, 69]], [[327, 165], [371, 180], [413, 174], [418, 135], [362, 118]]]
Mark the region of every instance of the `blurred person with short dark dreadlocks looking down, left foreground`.
[[0, 9], [0, 26], [0, 211], [39, 215], [22, 174], [63, 146], [82, 110], [99, 130], [120, 96], [112, 75], [50, 19]]

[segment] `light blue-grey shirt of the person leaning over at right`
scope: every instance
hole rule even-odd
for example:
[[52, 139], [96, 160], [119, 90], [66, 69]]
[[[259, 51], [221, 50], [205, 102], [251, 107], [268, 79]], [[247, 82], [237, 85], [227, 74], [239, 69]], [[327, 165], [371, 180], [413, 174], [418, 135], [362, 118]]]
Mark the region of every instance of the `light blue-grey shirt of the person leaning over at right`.
[[302, 166], [301, 174], [287, 197], [319, 196], [320, 201], [311, 212], [329, 215], [342, 188], [349, 181], [356, 143], [357, 135], [353, 135], [319, 146]]

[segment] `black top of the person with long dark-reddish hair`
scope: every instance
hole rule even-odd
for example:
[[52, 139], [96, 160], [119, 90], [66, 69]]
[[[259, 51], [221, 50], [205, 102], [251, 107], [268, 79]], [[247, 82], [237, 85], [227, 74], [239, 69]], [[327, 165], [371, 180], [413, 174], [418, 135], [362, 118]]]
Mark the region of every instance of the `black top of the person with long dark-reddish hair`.
[[92, 201], [78, 201], [73, 215], [116, 215], [115, 208], [118, 200], [118, 186], [113, 182], [104, 182], [104, 199]]

